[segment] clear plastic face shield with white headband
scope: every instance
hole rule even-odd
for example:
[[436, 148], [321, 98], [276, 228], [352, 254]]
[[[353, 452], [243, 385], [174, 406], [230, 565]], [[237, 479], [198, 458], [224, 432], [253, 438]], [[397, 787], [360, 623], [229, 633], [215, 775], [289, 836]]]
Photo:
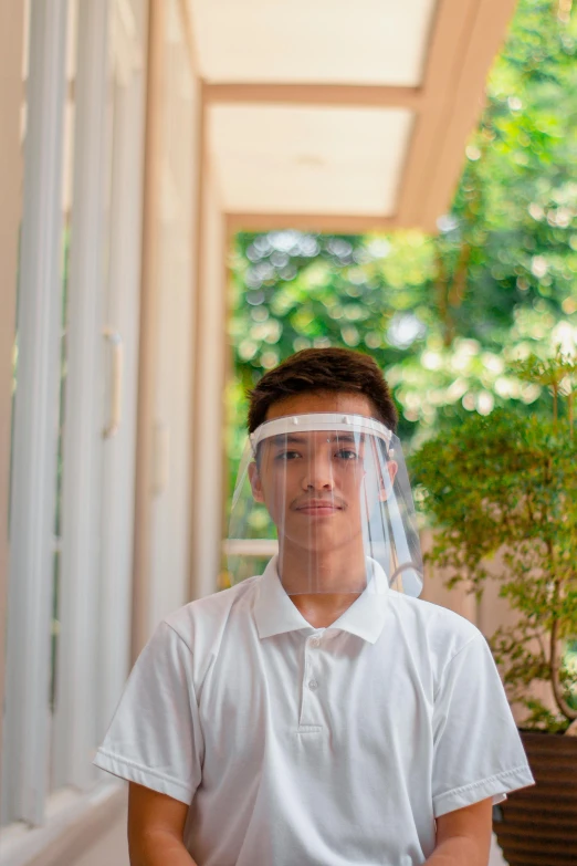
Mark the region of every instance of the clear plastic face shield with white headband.
[[[250, 435], [231, 507], [231, 583], [259, 550], [277, 552], [288, 595], [417, 596], [422, 557], [399, 439], [375, 418], [313, 413]], [[254, 573], [254, 572], [252, 572]]]

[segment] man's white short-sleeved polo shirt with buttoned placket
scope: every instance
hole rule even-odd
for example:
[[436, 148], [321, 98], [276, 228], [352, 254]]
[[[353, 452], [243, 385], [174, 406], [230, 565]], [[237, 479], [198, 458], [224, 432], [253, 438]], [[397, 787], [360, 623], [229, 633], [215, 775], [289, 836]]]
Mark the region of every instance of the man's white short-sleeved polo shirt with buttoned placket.
[[533, 784], [474, 626], [389, 589], [313, 628], [275, 560], [160, 624], [95, 763], [190, 804], [199, 866], [417, 866]]

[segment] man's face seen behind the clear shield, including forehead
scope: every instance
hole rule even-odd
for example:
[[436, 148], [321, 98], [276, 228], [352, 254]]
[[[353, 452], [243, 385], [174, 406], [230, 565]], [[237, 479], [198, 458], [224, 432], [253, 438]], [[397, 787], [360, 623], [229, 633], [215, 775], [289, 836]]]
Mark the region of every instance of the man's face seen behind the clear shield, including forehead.
[[[361, 395], [303, 394], [274, 404], [266, 420], [311, 413], [374, 416]], [[259, 446], [250, 467], [253, 495], [266, 504], [280, 540], [311, 553], [338, 550], [361, 540], [379, 498], [378, 465], [373, 438], [295, 428]]]

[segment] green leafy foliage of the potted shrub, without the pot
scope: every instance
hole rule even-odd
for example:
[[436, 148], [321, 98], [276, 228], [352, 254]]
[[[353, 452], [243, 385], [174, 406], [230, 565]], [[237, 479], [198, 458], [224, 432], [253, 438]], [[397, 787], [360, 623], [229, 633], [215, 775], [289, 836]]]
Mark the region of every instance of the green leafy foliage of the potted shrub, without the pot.
[[[565, 382], [577, 365], [535, 356], [517, 374], [544, 385]], [[529, 711], [527, 724], [564, 730], [577, 719], [577, 666], [559, 644], [577, 638], [577, 444], [564, 415], [524, 417], [513, 408], [471, 416], [413, 455], [420, 501], [436, 525], [430, 560], [455, 585], [481, 593], [491, 560], [501, 554], [501, 592], [516, 624], [497, 629], [492, 649], [510, 699]], [[553, 686], [558, 714], [528, 696], [535, 681]]]

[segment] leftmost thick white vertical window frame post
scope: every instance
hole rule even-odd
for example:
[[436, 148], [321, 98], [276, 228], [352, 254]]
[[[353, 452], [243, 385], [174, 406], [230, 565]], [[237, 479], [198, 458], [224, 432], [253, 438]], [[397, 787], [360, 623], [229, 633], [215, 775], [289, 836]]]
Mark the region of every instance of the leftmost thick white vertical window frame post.
[[61, 346], [67, 0], [34, 0], [24, 142], [2, 823], [41, 824], [48, 784]]

